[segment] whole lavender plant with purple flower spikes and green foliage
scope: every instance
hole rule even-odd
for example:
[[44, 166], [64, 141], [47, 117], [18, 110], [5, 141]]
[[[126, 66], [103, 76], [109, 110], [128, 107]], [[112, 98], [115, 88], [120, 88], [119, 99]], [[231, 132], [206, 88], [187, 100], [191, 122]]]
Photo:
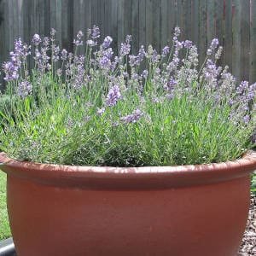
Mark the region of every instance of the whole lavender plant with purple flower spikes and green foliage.
[[[204, 64], [179, 41], [160, 53], [131, 54], [131, 36], [113, 54], [113, 38], [93, 26], [74, 52], [35, 34], [3, 63], [0, 149], [17, 160], [91, 166], [173, 166], [235, 160], [255, 146], [256, 83], [218, 67], [213, 39]], [[102, 43], [101, 43], [102, 42]], [[84, 54], [82, 45], [85, 44]], [[182, 52], [185, 53], [181, 58]], [[28, 69], [31, 58], [33, 68]]]

